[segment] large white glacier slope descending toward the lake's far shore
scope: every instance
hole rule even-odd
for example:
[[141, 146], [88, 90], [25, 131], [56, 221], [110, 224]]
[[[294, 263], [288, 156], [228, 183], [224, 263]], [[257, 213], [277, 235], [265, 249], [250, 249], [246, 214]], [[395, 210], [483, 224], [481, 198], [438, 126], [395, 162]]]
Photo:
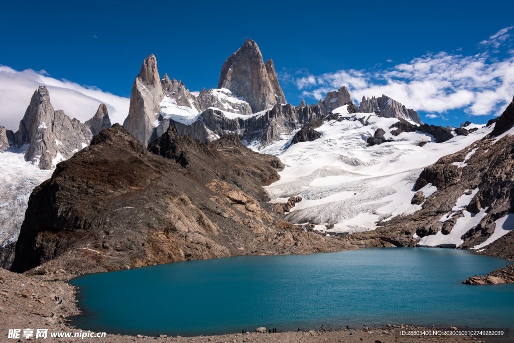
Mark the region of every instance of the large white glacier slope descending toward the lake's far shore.
[[[371, 230], [377, 220], [417, 211], [421, 205], [411, 204], [411, 199], [423, 168], [491, 130], [480, 128], [468, 136], [435, 143], [432, 136], [419, 131], [393, 136], [394, 128], [390, 127], [398, 122], [396, 118], [374, 113], [349, 115], [346, 106], [334, 112], [345, 119], [327, 121], [316, 128], [321, 138], [290, 145], [291, 137], [284, 137], [260, 150], [278, 156], [286, 165], [281, 179], [266, 187], [271, 201], [301, 196], [303, 200], [286, 218], [295, 223], [322, 224], [331, 232]], [[366, 139], [378, 128], [386, 131], [384, 138], [394, 142], [368, 147]], [[419, 146], [421, 142], [428, 143]], [[427, 197], [435, 189], [427, 185], [421, 190]]]

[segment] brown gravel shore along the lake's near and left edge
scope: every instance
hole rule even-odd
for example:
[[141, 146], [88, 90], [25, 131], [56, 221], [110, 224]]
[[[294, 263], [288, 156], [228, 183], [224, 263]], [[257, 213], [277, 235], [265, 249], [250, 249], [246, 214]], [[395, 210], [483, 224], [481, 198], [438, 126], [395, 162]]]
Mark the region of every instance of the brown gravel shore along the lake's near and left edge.
[[[77, 288], [64, 280], [57, 280], [52, 275], [23, 275], [0, 269], [0, 323], [7, 329], [44, 328], [49, 332], [77, 332], [70, 324], [70, 316], [80, 315], [82, 311], [78, 307]], [[59, 296], [62, 302], [54, 301], [54, 296]], [[22, 311], [20, 311], [22, 309]], [[177, 343], [196, 342], [361, 342], [361, 341], [402, 341], [417, 342], [424, 341], [485, 341], [485, 342], [506, 342], [508, 337], [473, 337], [469, 335], [459, 336], [434, 336], [414, 335], [406, 336], [401, 332], [451, 330], [450, 327], [422, 327], [412, 325], [374, 326], [372, 328], [341, 330], [309, 330], [309, 331], [286, 331], [277, 333], [256, 333], [247, 334], [231, 333], [214, 336], [192, 336], [192, 337], [154, 337], [143, 335], [119, 335], [108, 334], [105, 339], [90, 339], [89, 341], [109, 341], [113, 343], [125, 343], [133, 341], [173, 341]], [[252, 331], [255, 329], [253, 328]], [[467, 330], [459, 328], [459, 330]], [[352, 334], [350, 334], [352, 333]], [[7, 330], [2, 333], [7, 335]], [[509, 333], [512, 335], [512, 333]], [[88, 339], [77, 338], [77, 341], [88, 341]], [[22, 342], [27, 340], [21, 339]], [[32, 340], [34, 341], [34, 340]], [[35, 340], [38, 341], [38, 340]], [[47, 338], [41, 342], [62, 341], [62, 339]], [[69, 341], [74, 341], [70, 339]]]

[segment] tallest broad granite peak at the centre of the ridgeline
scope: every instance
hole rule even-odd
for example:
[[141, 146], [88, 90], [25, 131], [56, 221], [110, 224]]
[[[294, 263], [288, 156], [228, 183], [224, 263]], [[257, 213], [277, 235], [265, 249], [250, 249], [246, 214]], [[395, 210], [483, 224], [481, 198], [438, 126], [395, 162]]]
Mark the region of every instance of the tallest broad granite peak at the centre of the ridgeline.
[[273, 62], [265, 64], [259, 46], [250, 39], [223, 64], [218, 88], [244, 98], [253, 112], [286, 103]]

